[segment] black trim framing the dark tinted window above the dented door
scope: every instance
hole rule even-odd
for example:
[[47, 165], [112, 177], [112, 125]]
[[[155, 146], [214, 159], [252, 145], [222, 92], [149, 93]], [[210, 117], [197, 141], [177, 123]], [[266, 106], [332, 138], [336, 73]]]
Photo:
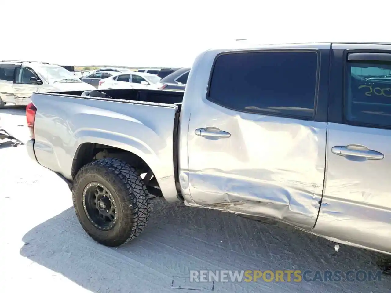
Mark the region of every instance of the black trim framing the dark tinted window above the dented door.
[[[274, 53], [274, 52], [308, 52], [308, 53], [316, 53], [317, 56], [317, 66], [316, 66], [316, 84], [315, 84], [315, 97], [314, 97], [314, 114], [312, 117], [308, 116], [298, 116], [298, 115], [290, 115], [290, 114], [281, 114], [281, 113], [271, 113], [267, 111], [260, 111], [260, 110], [238, 110], [238, 109], [233, 109], [230, 107], [227, 107], [225, 105], [221, 105], [214, 101], [213, 99], [210, 98], [210, 85], [212, 82], [212, 76], [213, 76], [213, 71], [215, 69], [215, 64], [217, 61], [217, 58], [219, 58], [221, 55], [230, 55], [230, 54], [242, 54], [242, 53]], [[265, 116], [275, 116], [275, 117], [282, 117], [282, 118], [291, 118], [291, 119], [299, 119], [299, 120], [307, 120], [307, 121], [317, 121], [317, 113], [318, 113], [318, 104], [319, 104], [319, 82], [320, 82], [320, 74], [321, 74], [321, 49], [255, 49], [255, 50], [232, 50], [232, 51], [227, 51], [227, 52], [222, 52], [220, 54], [217, 54], [215, 56], [215, 59], [213, 60], [212, 64], [212, 70], [210, 71], [209, 75], [209, 80], [208, 80], [208, 89], [206, 91], [206, 100], [209, 102], [219, 105], [221, 107], [224, 107], [226, 109], [230, 109], [235, 112], [240, 112], [240, 113], [250, 113], [250, 114], [257, 114], [257, 115], [265, 115]], [[328, 70], [328, 66], [327, 66]], [[322, 107], [323, 108], [323, 107]], [[326, 110], [327, 111], [327, 110]], [[327, 115], [327, 114], [326, 114]], [[323, 115], [322, 115], [323, 116]], [[321, 122], [326, 122], [327, 120], [324, 121], [324, 119], [321, 119]]]

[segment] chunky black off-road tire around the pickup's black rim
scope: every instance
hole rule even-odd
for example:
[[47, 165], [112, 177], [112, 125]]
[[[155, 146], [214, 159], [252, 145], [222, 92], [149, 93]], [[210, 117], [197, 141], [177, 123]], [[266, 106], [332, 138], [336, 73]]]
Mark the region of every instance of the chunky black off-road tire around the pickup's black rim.
[[[83, 208], [83, 191], [90, 182], [100, 182], [111, 189], [118, 220], [113, 229], [97, 229]], [[72, 198], [76, 216], [87, 234], [98, 243], [117, 247], [136, 238], [147, 225], [151, 211], [150, 198], [135, 168], [125, 161], [107, 158], [84, 165], [75, 176]]]

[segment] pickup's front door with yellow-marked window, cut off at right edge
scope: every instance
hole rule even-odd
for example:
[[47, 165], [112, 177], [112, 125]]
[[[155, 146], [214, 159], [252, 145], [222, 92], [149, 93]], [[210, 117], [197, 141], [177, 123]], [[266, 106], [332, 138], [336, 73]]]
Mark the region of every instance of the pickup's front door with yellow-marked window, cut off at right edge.
[[328, 169], [315, 231], [391, 252], [391, 46], [361, 46], [333, 45]]

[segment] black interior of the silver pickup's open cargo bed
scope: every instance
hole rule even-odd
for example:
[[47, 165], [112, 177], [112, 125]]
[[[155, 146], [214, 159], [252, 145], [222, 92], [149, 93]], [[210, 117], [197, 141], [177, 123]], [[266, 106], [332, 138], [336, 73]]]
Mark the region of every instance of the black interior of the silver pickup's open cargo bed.
[[[152, 102], [161, 104], [180, 104], [183, 100], [183, 91], [165, 91], [160, 89], [99, 89], [102, 93], [106, 93], [114, 100], [128, 100], [140, 102]], [[60, 91], [48, 93], [59, 96], [81, 96], [83, 91]], [[95, 97], [83, 96], [82, 98], [99, 99]]]

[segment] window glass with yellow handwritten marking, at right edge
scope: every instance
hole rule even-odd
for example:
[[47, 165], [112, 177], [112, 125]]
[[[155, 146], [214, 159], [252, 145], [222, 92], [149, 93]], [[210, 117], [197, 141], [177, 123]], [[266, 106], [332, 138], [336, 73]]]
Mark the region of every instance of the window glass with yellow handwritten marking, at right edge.
[[[391, 128], [391, 54], [383, 61], [355, 60], [355, 55], [346, 64], [345, 119], [353, 125]], [[376, 53], [372, 56], [378, 59]]]

